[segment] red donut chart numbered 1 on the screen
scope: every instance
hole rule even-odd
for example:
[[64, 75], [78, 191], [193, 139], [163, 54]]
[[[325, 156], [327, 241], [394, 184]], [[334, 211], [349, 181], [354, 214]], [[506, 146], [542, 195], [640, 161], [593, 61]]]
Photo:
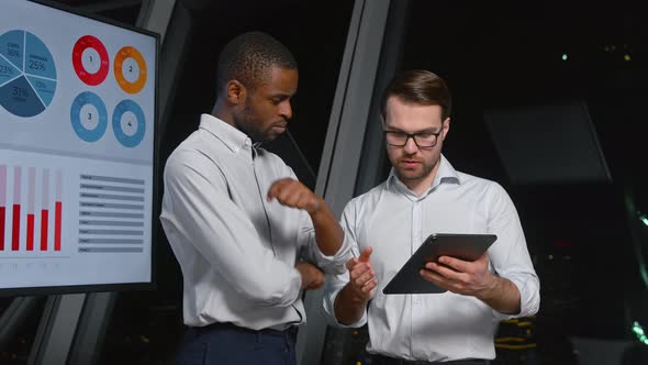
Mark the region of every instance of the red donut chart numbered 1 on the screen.
[[75, 43], [72, 65], [77, 76], [87, 85], [103, 82], [110, 69], [105, 46], [92, 35], [83, 35]]

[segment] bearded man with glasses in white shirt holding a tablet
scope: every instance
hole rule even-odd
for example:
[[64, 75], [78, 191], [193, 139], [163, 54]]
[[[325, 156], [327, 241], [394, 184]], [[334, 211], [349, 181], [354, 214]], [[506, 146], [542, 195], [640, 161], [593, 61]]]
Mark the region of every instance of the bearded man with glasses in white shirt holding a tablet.
[[[349, 273], [326, 284], [324, 309], [339, 325], [368, 323], [372, 364], [488, 364], [498, 321], [539, 307], [539, 280], [509, 195], [455, 170], [442, 155], [450, 104], [446, 84], [429, 71], [405, 71], [390, 82], [381, 112], [392, 170], [343, 213], [355, 257]], [[427, 263], [420, 275], [446, 292], [384, 295], [432, 233], [489, 233], [498, 241], [476, 262]]]

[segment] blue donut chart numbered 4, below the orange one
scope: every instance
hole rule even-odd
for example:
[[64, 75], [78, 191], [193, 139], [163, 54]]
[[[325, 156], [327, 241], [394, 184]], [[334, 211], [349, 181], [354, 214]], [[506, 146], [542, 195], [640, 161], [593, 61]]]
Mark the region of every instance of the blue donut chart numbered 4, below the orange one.
[[136, 147], [146, 132], [144, 111], [135, 101], [122, 100], [112, 114], [112, 130], [124, 147]]

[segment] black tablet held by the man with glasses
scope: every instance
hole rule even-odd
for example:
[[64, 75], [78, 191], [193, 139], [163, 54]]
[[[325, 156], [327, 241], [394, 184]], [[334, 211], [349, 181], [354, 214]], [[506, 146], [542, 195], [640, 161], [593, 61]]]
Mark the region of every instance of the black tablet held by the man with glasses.
[[383, 294], [429, 294], [446, 289], [424, 280], [418, 272], [439, 256], [476, 261], [498, 240], [494, 234], [433, 233], [382, 289]]

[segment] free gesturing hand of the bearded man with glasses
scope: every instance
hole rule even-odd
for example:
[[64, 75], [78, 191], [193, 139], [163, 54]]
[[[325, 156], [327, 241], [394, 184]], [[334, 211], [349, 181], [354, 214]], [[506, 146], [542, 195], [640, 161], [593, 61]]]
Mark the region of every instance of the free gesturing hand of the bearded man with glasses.
[[360, 257], [354, 257], [346, 263], [349, 270], [348, 290], [355, 302], [366, 303], [376, 295], [378, 280], [369, 261], [372, 251], [373, 248], [367, 246], [360, 253]]

